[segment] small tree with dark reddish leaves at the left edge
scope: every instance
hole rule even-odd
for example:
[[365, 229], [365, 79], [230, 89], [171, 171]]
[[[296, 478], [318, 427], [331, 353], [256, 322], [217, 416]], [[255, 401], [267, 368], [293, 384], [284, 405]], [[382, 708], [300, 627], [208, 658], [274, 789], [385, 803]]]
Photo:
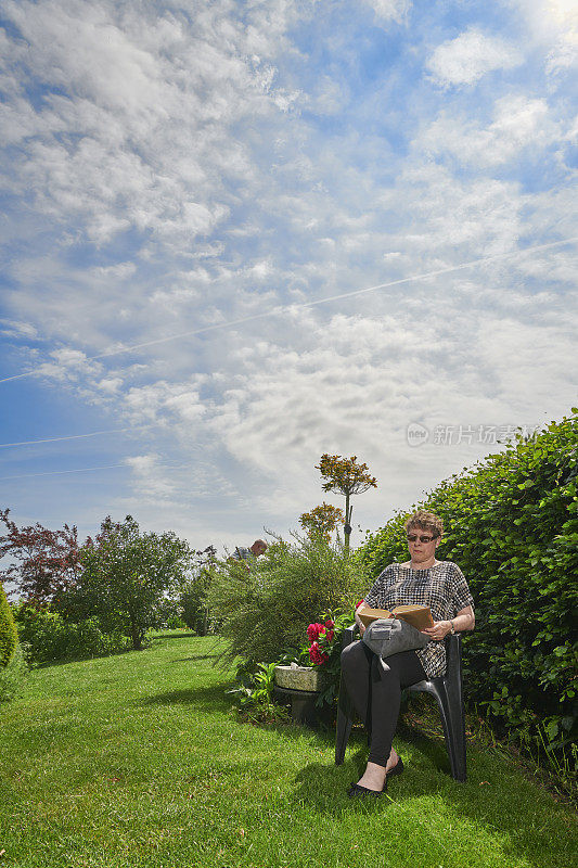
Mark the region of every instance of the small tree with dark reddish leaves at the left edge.
[[24, 599], [36, 607], [47, 605], [74, 586], [80, 570], [74, 525], [50, 531], [37, 522], [18, 528], [9, 509], [0, 510], [0, 522], [7, 528], [0, 536], [0, 560], [13, 559], [0, 570], [0, 582], [15, 582]]

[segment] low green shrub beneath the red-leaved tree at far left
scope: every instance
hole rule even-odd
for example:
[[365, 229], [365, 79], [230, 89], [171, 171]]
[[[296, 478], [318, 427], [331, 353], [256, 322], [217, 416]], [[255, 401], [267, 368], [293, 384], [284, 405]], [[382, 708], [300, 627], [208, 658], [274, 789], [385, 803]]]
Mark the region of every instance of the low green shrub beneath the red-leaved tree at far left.
[[29, 660], [34, 663], [101, 656], [127, 647], [125, 636], [104, 634], [93, 617], [75, 624], [57, 612], [36, 610], [24, 603], [15, 607], [14, 616], [20, 639], [29, 646]]

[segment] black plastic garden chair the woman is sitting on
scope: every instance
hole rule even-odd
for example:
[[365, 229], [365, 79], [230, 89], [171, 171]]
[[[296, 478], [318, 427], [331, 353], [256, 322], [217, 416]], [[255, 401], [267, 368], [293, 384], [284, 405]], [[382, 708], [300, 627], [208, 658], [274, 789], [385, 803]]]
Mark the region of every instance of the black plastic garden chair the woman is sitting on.
[[[348, 627], [343, 635], [343, 648], [354, 641], [357, 625]], [[409, 693], [431, 693], [436, 698], [444, 725], [446, 748], [450, 760], [451, 776], [454, 780], [464, 781], [465, 774], [465, 719], [462, 697], [462, 638], [459, 633], [447, 636], [446, 675], [426, 678], [423, 681], [404, 688]], [[354, 723], [354, 709], [344, 685], [339, 684], [337, 706], [337, 732], [335, 738], [335, 765], [341, 766], [345, 760], [345, 749], [349, 741]]]

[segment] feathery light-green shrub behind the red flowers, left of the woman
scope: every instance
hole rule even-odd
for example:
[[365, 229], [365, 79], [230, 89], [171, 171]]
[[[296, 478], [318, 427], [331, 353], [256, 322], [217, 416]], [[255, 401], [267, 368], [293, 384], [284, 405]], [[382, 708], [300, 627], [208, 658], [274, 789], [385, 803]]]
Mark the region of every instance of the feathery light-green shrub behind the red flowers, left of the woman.
[[220, 563], [209, 604], [229, 639], [224, 659], [271, 663], [288, 649], [298, 653], [311, 617], [350, 608], [367, 585], [343, 546], [319, 537], [278, 540], [251, 569], [243, 561]]

